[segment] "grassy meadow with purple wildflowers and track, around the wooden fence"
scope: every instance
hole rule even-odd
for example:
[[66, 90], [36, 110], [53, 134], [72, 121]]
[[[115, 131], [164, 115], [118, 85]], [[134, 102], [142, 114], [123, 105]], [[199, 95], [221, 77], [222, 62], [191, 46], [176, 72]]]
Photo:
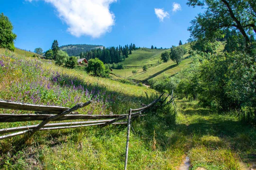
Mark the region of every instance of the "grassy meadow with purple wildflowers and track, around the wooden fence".
[[[3, 100], [72, 107], [91, 99], [92, 104], [78, 110], [80, 114], [124, 114], [159, 95], [115, 79], [0, 49]], [[256, 159], [255, 127], [240, 121], [237, 113], [217, 113], [197, 101], [176, 103], [178, 116], [166, 105], [132, 120], [127, 169], [177, 169], [188, 155], [193, 170], [238, 170], [241, 160]], [[37, 123], [0, 123], [0, 128]], [[126, 125], [91, 126], [37, 132], [27, 142], [23, 136], [6, 139], [0, 141], [0, 169], [123, 169], [126, 131]]]

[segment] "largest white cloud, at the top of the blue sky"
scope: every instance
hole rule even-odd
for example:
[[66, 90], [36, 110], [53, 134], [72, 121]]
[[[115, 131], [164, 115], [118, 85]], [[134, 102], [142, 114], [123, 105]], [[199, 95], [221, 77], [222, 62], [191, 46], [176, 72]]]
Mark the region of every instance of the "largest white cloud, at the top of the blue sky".
[[[33, 0], [26, 0], [32, 2]], [[35, 1], [35, 0], [34, 0]], [[100, 37], [110, 32], [115, 16], [109, 10], [116, 0], [44, 0], [58, 11], [58, 17], [68, 25], [67, 31], [80, 37]]]

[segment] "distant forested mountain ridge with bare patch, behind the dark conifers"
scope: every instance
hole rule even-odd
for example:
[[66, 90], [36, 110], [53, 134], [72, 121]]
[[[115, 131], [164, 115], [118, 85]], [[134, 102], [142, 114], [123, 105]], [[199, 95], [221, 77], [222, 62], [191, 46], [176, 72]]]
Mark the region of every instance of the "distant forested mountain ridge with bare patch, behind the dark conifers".
[[103, 46], [91, 44], [68, 44], [60, 46], [60, 49], [66, 51], [69, 56], [79, 56], [81, 52], [90, 51], [93, 48], [103, 49]]

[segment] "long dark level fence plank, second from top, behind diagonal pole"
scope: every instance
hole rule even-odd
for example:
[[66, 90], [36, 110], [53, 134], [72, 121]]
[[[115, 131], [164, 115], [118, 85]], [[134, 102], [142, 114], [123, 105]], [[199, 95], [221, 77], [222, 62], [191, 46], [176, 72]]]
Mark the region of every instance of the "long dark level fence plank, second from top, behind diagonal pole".
[[[50, 117], [50, 114], [0, 114], [0, 123], [3, 122], [25, 122], [25, 121], [42, 121]], [[64, 120], [89, 120], [89, 119], [113, 119], [126, 116], [126, 114], [113, 114], [113, 115], [86, 115], [86, 114], [67, 114], [55, 121]]]

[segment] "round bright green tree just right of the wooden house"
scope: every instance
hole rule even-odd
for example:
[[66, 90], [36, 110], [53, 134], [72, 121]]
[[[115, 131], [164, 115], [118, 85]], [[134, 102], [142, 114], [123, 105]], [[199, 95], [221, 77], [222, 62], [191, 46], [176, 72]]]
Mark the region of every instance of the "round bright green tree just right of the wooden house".
[[103, 76], [105, 71], [105, 66], [101, 60], [98, 58], [90, 59], [88, 61], [88, 66], [86, 68], [88, 73], [92, 72], [94, 76]]

